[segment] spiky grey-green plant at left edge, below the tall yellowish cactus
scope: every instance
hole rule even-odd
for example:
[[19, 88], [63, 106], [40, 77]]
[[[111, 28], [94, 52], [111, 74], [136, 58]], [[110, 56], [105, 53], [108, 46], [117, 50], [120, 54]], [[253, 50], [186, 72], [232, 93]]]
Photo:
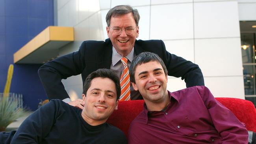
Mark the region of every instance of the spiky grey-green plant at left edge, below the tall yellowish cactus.
[[18, 101], [9, 96], [0, 97], [0, 131], [6, 131], [6, 127], [24, 116], [28, 112], [18, 107]]

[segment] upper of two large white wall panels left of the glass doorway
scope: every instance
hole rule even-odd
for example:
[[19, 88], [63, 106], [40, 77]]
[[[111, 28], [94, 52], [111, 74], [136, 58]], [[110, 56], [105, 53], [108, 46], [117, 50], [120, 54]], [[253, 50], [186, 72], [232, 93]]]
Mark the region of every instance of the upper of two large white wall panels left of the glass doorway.
[[239, 37], [237, 2], [194, 4], [195, 38]]

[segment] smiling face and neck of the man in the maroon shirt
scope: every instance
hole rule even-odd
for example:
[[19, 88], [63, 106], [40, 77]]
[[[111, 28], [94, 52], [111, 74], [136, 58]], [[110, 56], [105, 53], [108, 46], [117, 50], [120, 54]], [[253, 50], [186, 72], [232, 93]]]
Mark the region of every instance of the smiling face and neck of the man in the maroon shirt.
[[139, 90], [147, 107], [151, 104], [167, 103], [169, 101], [167, 76], [163, 67], [157, 61], [137, 65], [134, 73], [135, 83], [132, 86]]

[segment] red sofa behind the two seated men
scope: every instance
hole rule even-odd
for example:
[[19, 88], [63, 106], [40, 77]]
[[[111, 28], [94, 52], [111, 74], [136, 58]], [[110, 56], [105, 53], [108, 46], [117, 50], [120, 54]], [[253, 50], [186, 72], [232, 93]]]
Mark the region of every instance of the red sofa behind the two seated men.
[[[215, 98], [245, 123], [247, 130], [256, 132], [256, 109], [248, 100], [238, 98]], [[108, 123], [121, 129], [126, 136], [130, 123], [142, 111], [144, 100], [119, 102], [118, 110], [108, 118]]]

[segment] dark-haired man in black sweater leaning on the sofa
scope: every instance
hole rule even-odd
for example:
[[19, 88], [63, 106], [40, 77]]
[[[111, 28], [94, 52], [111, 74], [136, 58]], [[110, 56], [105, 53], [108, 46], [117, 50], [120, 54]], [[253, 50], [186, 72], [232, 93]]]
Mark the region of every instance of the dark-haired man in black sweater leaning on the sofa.
[[0, 133], [0, 143], [126, 144], [124, 133], [106, 123], [117, 109], [120, 93], [118, 76], [98, 69], [85, 80], [83, 109], [51, 100], [26, 118], [16, 133]]

